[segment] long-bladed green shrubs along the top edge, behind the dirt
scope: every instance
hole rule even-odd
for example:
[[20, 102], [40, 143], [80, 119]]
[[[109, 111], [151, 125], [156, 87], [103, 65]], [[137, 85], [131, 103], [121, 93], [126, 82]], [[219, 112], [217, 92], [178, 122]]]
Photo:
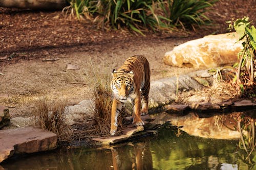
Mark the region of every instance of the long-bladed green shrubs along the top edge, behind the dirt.
[[[175, 27], [205, 24], [207, 8], [217, 0], [71, 0], [65, 8], [93, 20], [104, 29], [128, 28], [142, 35], [145, 30], [172, 31]], [[64, 11], [65, 11], [64, 10]]]

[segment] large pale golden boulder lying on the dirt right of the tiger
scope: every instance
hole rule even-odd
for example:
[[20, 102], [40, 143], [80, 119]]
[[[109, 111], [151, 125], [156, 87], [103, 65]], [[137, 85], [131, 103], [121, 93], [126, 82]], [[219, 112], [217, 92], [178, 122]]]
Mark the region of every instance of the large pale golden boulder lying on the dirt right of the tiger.
[[243, 46], [236, 33], [209, 35], [187, 41], [165, 53], [163, 61], [178, 67], [214, 68], [238, 62]]

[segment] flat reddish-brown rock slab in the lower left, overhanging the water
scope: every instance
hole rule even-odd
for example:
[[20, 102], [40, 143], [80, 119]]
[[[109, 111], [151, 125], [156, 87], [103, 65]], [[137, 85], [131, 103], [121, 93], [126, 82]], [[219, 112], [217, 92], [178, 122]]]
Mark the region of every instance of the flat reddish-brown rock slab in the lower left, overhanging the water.
[[57, 135], [39, 127], [0, 130], [0, 162], [14, 154], [35, 153], [57, 147]]

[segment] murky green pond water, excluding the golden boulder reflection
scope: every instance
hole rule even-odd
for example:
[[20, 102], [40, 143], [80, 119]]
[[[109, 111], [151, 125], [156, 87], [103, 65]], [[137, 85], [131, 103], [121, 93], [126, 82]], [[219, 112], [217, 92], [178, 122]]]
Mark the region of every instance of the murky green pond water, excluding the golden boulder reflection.
[[0, 169], [256, 169], [254, 153], [248, 163], [237, 147], [238, 140], [200, 138], [185, 132], [177, 137], [177, 133], [167, 126], [157, 136], [137, 142], [17, 157], [2, 162]]

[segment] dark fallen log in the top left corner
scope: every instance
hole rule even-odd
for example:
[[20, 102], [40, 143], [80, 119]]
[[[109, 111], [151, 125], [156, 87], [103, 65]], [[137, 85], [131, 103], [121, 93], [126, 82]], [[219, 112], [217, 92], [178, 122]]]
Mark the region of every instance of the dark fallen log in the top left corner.
[[0, 7], [40, 10], [61, 10], [68, 6], [66, 0], [1, 0]]

